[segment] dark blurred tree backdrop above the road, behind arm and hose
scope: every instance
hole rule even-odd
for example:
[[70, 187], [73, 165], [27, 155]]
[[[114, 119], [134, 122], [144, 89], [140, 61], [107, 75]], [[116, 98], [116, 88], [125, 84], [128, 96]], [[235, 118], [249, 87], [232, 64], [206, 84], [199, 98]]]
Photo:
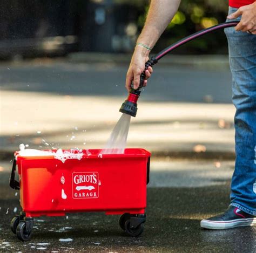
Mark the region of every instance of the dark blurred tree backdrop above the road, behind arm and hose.
[[[132, 52], [149, 0], [9, 0], [0, 9], [0, 58], [59, 56], [69, 52]], [[227, 1], [182, 0], [154, 51], [225, 22]], [[174, 53], [227, 53], [223, 31]]]

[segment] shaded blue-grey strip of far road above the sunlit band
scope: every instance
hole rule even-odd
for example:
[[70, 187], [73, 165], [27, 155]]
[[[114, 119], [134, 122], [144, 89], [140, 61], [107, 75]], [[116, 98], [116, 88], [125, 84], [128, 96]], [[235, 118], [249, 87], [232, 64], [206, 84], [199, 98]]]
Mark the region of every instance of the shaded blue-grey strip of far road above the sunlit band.
[[[0, 87], [8, 91], [46, 92], [62, 95], [126, 95], [128, 65], [22, 63], [0, 66]], [[156, 66], [140, 100], [231, 103], [231, 74], [223, 70]], [[186, 91], [186, 92], [184, 92]], [[221, 92], [219, 92], [221, 91]]]

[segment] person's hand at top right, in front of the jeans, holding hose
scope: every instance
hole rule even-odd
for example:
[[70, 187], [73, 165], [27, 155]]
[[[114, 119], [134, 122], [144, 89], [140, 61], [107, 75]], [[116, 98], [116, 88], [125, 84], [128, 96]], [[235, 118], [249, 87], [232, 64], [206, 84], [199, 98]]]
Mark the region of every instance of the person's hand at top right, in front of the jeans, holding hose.
[[228, 19], [241, 17], [240, 22], [235, 26], [236, 31], [248, 32], [256, 35], [256, 2], [240, 7], [237, 11], [228, 15]]

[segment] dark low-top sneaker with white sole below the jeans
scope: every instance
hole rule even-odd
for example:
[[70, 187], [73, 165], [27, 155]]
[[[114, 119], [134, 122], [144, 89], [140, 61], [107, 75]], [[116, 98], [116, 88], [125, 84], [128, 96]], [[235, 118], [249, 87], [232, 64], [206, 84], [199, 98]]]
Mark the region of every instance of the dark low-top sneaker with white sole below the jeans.
[[256, 225], [256, 215], [246, 214], [237, 207], [230, 206], [224, 214], [202, 220], [201, 228], [228, 229]]

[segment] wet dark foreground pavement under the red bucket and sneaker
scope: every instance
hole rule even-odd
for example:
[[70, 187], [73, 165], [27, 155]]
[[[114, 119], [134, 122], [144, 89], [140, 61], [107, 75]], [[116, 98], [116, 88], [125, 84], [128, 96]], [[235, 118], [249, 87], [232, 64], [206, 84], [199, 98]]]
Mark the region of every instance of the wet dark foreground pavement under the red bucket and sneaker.
[[[256, 251], [255, 227], [222, 231], [199, 227], [202, 218], [218, 214], [228, 206], [232, 161], [153, 160], [147, 221], [144, 233], [137, 238], [125, 235], [119, 228], [118, 216], [79, 213], [38, 217], [29, 242], [19, 242], [9, 228], [19, 203], [19, 196], [8, 187], [9, 164], [0, 162], [0, 251]], [[164, 173], [169, 174], [169, 183], [162, 183], [167, 175]], [[65, 238], [72, 241], [59, 241]]]

